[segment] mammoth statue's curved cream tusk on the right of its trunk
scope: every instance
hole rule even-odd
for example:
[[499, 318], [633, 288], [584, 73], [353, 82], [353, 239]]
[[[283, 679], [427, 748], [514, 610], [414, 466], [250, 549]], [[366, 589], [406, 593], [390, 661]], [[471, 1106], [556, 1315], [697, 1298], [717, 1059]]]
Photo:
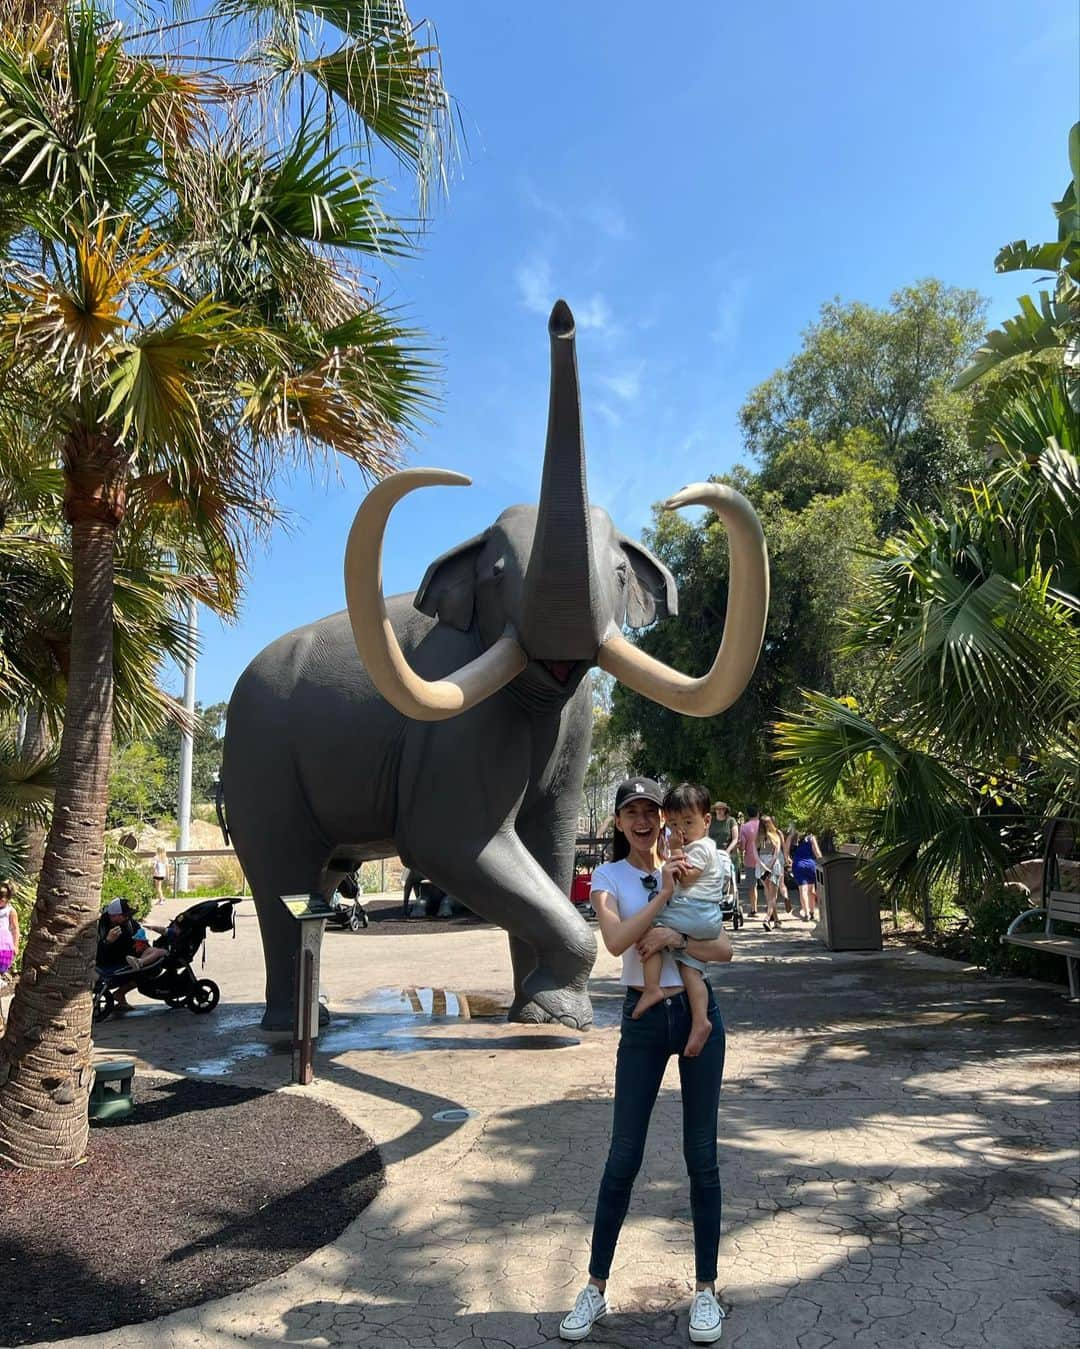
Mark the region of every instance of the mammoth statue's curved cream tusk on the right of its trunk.
[[732, 487], [692, 483], [669, 498], [665, 510], [711, 506], [728, 532], [731, 579], [724, 638], [708, 674], [690, 679], [632, 646], [622, 633], [600, 646], [596, 664], [636, 693], [686, 716], [716, 716], [750, 683], [769, 615], [769, 550], [756, 511]]

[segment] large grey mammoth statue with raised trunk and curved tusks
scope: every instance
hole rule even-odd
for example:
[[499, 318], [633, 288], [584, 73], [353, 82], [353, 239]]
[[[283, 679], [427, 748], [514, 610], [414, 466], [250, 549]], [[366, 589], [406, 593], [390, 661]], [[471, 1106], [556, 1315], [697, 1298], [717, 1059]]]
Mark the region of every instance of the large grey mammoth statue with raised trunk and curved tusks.
[[406, 469], [365, 496], [345, 550], [348, 610], [263, 650], [229, 701], [228, 827], [259, 915], [268, 1029], [291, 1025], [298, 936], [278, 896], [333, 893], [363, 861], [399, 855], [510, 938], [510, 1020], [592, 1023], [592, 931], [568, 894], [589, 753], [593, 666], [665, 707], [715, 716], [746, 687], [769, 607], [760, 523], [729, 487], [665, 505], [711, 506], [731, 549], [720, 650], [690, 679], [623, 627], [677, 612], [670, 572], [592, 506], [574, 320], [549, 321], [551, 384], [539, 503], [511, 506], [427, 568], [415, 596], [382, 594], [382, 541], [418, 487], [468, 486]]

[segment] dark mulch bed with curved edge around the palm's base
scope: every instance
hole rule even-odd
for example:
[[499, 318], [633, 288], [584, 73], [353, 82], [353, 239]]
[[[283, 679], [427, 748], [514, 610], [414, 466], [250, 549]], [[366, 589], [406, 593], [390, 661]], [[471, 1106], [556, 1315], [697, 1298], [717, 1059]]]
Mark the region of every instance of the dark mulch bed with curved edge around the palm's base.
[[0, 1344], [150, 1321], [247, 1288], [333, 1240], [383, 1186], [337, 1110], [136, 1075], [136, 1112], [71, 1171], [0, 1171]]

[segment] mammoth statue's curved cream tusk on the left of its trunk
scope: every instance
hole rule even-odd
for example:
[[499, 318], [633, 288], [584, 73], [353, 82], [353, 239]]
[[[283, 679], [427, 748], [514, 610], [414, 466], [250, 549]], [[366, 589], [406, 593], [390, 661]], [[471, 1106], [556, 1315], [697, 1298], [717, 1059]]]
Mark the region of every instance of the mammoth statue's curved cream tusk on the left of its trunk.
[[383, 697], [421, 722], [467, 712], [508, 684], [526, 666], [512, 637], [440, 680], [425, 680], [398, 645], [383, 600], [383, 533], [391, 510], [418, 487], [468, 487], [471, 479], [445, 468], [406, 468], [376, 483], [360, 503], [345, 545], [345, 603], [364, 669]]

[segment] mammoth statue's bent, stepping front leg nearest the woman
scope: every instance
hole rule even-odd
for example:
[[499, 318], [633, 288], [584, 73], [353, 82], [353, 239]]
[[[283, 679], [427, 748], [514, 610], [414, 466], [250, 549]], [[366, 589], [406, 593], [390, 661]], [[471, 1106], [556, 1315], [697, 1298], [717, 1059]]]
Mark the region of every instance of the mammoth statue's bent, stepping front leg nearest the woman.
[[414, 851], [426, 876], [510, 934], [515, 981], [520, 975], [511, 1020], [592, 1025], [588, 983], [596, 939], [515, 832], [498, 834], [479, 853]]

